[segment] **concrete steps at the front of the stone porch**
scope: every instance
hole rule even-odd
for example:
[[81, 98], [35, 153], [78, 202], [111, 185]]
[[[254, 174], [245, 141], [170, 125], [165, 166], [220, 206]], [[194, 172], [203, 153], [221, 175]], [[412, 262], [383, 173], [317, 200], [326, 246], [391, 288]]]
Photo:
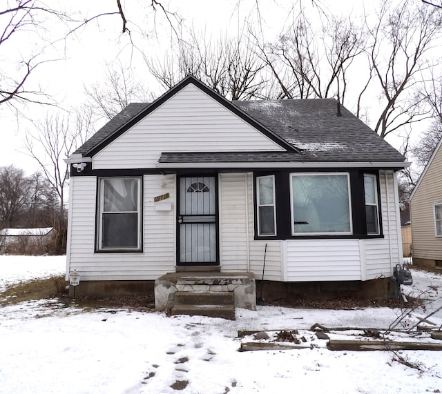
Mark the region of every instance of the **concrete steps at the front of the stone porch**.
[[178, 291], [172, 315], [200, 315], [235, 319], [233, 292]]

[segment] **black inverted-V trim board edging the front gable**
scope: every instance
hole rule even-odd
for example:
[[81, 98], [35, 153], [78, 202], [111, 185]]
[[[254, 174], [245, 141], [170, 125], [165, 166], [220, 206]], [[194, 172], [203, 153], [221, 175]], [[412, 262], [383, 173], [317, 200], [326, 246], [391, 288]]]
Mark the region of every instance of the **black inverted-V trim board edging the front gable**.
[[258, 121], [253, 119], [250, 115], [247, 115], [246, 112], [241, 110], [240, 108], [234, 106], [231, 104], [231, 102], [227, 99], [224, 99], [221, 95], [219, 95], [217, 92], [209, 88], [208, 86], [204, 85], [201, 81], [198, 81], [195, 77], [192, 75], [189, 75], [188, 77], [182, 79], [179, 83], [177, 83], [173, 88], [165, 92], [162, 96], [160, 96], [158, 99], [153, 101], [150, 105], [148, 105], [144, 110], [139, 112], [135, 117], [130, 119], [126, 124], [115, 130], [111, 135], [108, 135], [108, 137], [105, 137], [99, 144], [97, 144], [94, 148], [88, 150], [88, 152], [84, 153], [83, 157], [90, 157], [96, 155], [100, 150], [105, 148], [108, 144], [111, 144], [112, 141], [115, 141], [120, 135], [122, 135], [125, 131], [127, 131], [129, 128], [133, 127], [135, 124], [137, 124], [140, 120], [142, 120], [144, 117], [149, 115], [153, 110], [164, 104], [167, 100], [169, 100], [171, 97], [177, 94], [177, 92], [180, 92], [183, 88], [185, 88], [190, 83], [193, 83], [197, 88], [202, 90], [202, 92], [206, 93], [218, 103], [220, 103], [222, 106], [233, 112], [235, 115], [238, 115], [242, 120], [247, 121], [248, 124], [250, 124], [253, 128], [256, 128], [262, 134], [264, 134], [266, 137], [269, 137], [272, 141], [276, 142], [279, 146], [291, 151], [291, 152], [297, 152], [301, 153], [300, 150], [289, 144], [287, 141], [279, 137], [278, 135], [274, 134], [269, 130], [267, 127], [262, 126]]

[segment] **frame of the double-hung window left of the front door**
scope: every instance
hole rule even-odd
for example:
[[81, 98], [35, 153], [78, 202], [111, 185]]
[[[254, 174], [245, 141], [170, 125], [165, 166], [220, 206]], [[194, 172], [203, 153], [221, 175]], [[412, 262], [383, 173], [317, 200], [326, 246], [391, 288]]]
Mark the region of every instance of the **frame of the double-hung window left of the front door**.
[[[136, 247], [103, 247], [103, 222], [104, 222], [104, 184], [107, 179], [135, 179], [137, 181], [137, 246]], [[143, 201], [143, 177], [123, 176], [123, 177], [98, 177], [97, 179], [97, 223], [95, 236], [95, 252], [99, 253], [119, 253], [119, 252], [142, 252], [142, 201]], [[115, 213], [135, 213], [135, 211], [112, 212]]]

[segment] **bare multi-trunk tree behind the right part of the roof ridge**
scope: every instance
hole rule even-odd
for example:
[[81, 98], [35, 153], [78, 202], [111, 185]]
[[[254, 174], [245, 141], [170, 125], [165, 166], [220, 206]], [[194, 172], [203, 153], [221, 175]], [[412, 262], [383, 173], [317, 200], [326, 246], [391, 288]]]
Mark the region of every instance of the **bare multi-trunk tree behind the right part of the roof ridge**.
[[316, 28], [301, 10], [277, 41], [263, 45], [255, 36], [256, 50], [276, 81], [276, 97], [345, 100], [347, 72], [365, 49], [365, 35], [351, 19], [322, 20]]

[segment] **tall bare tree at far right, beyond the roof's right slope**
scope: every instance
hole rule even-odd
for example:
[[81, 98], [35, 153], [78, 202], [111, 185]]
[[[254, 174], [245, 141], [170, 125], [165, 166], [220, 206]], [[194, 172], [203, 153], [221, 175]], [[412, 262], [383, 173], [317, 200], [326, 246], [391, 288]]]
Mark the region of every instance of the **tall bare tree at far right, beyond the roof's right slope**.
[[425, 5], [405, 0], [394, 7], [383, 3], [377, 20], [374, 27], [367, 26], [371, 41], [367, 55], [381, 91], [382, 109], [374, 130], [385, 137], [429, 116], [416, 90], [432, 68], [428, 57], [442, 37], [442, 19]]

